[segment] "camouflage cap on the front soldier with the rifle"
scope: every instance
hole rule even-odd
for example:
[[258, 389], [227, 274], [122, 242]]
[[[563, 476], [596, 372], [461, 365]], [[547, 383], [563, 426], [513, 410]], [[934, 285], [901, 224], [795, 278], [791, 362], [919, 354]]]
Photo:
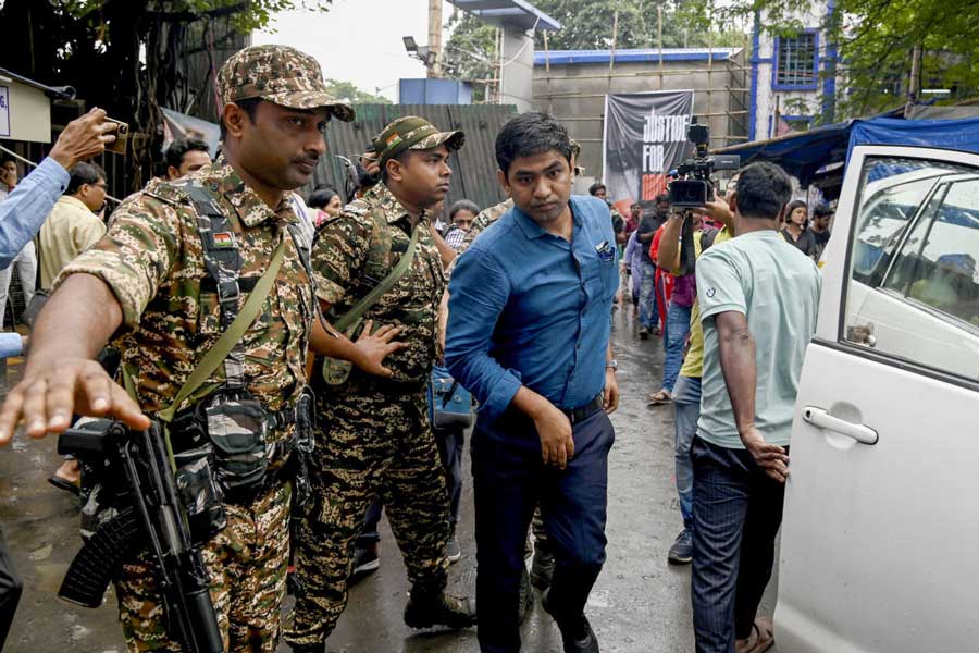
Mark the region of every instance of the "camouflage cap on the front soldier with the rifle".
[[235, 52], [218, 73], [223, 102], [261, 98], [289, 109], [325, 107], [342, 121], [355, 118], [354, 108], [329, 93], [315, 59], [288, 46], [251, 46]]

